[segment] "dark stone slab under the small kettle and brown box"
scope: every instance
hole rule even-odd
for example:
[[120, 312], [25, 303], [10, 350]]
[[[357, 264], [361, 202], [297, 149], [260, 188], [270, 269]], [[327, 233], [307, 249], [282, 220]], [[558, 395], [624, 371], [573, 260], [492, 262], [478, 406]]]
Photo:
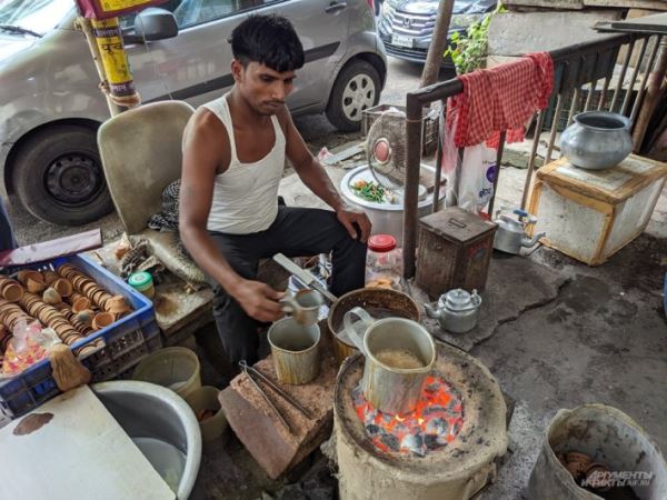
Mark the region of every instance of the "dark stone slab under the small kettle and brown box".
[[[489, 267], [487, 289], [480, 292], [482, 302], [477, 327], [466, 333], [444, 331], [436, 320], [427, 318], [426, 328], [438, 339], [470, 351], [490, 338], [502, 324], [524, 312], [541, 307], [558, 297], [568, 279], [552, 269], [519, 256], [495, 252]], [[412, 297], [424, 302], [424, 292], [411, 289]]]

